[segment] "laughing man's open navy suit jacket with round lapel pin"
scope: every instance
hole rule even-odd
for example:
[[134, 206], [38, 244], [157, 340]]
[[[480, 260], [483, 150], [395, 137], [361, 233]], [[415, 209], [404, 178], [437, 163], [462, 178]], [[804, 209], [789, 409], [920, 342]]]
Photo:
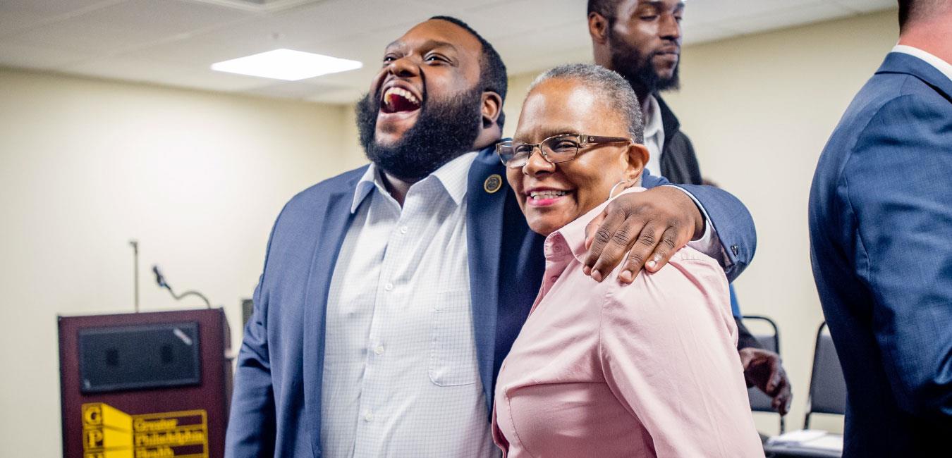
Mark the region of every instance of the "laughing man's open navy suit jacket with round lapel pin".
[[[366, 169], [299, 193], [274, 224], [238, 355], [226, 456], [321, 456], [327, 290], [350, 223], [354, 189]], [[493, 174], [504, 186], [490, 193], [484, 183]], [[545, 271], [545, 238], [528, 229], [505, 177], [493, 149], [484, 149], [469, 169], [466, 191], [471, 307], [487, 408], [496, 374]], [[645, 173], [645, 188], [665, 183]], [[704, 205], [732, 262], [727, 276], [736, 277], [756, 248], [750, 214], [723, 190], [683, 188]]]

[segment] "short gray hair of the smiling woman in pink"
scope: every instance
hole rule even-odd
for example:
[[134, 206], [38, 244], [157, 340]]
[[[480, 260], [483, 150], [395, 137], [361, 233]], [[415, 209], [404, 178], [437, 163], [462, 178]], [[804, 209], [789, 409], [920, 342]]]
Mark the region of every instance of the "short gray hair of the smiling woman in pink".
[[[529, 92], [542, 82], [550, 79], [574, 79], [595, 90], [600, 97], [604, 97], [605, 105], [617, 107], [625, 116], [628, 124], [628, 134], [635, 143], [645, 143], [645, 124], [642, 117], [642, 108], [638, 103], [638, 96], [631, 89], [622, 75], [605, 67], [593, 64], [565, 64], [536, 77], [529, 85]], [[589, 135], [603, 135], [604, 132], [577, 132]]]

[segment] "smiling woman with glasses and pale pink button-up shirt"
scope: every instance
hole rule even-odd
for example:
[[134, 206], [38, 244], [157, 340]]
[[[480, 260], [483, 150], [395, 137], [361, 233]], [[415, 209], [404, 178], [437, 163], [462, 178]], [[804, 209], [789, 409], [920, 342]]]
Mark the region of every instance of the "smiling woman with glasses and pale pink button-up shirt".
[[496, 383], [493, 437], [510, 457], [764, 456], [724, 270], [690, 248], [630, 284], [583, 272], [585, 226], [640, 184], [648, 152], [634, 92], [569, 65], [532, 83], [497, 146], [545, 279]]

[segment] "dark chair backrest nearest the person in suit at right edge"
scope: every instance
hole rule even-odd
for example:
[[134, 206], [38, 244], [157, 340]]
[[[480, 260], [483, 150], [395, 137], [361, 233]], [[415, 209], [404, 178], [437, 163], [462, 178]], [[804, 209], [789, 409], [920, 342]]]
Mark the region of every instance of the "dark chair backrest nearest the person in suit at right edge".
[[813, 354], [813, 375], [810, 376], [810, 398], [803, 419], [803, 428], [810, 426], [810, 413], [846, 413], [846, 380], [833, 339], [824, 333], [826, 323], [817, 330], [817, 345]]

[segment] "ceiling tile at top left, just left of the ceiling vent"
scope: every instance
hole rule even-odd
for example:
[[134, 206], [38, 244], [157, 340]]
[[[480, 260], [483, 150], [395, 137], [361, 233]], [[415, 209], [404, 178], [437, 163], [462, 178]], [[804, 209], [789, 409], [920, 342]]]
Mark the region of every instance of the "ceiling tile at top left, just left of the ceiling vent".
[[18, 33], [12, 41], [108, 53], [248, 18], [252, 13], [183, 0], [129, 0]]

